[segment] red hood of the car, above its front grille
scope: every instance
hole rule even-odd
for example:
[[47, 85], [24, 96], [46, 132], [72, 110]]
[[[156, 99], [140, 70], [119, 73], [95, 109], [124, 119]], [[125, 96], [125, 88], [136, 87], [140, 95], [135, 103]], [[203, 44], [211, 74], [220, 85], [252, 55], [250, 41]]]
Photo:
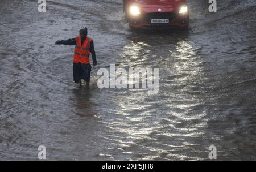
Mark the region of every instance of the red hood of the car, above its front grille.
[[135, 0], [136, 5], [143, 8], [173, 8], [184, 4], [184, 0]]

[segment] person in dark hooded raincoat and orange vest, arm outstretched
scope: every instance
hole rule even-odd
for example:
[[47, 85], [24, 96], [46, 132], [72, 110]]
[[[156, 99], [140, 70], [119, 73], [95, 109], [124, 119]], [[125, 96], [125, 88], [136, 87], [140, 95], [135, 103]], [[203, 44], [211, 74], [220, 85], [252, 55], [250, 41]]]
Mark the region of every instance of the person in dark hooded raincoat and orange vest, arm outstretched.
[[55, 45], [76, 45], [74, 59], [73, 59], [73, 78], [75, 83], [79, 83], [81, 86], [89, 87], [90, 83], [90, 71], [92, 66], [90, 65], [90, 53], [92, 54], [93, 66], [97, 65], [96, 54], [94, 50], [92, 38], [87, 37], [87, 28], [79, 31], [79, 36], [68, 39], [56, 41]]

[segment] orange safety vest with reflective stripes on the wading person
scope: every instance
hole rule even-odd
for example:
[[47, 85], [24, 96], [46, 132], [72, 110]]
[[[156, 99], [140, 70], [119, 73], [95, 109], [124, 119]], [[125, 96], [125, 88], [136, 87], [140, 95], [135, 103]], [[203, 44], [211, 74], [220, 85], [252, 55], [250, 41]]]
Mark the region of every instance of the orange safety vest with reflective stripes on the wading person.
[[91, 38], [86, 37], [84, 44], [81, 45], [81, 37], [76, 37], [76, 48], [74, 52], [74, 63], [84, 63], [88, 64], [90, 63], [90, 41], [92, 41]]

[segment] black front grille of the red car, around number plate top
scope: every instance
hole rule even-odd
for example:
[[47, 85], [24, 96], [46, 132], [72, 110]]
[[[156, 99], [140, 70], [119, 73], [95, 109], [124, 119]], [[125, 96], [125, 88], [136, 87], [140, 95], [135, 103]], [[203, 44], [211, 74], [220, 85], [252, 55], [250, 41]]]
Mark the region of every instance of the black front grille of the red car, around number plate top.
[[144, 20], [151, 23], [151, 19], [169, 19], [169, 23], [175, 20], [175, 14], [172, 12], [150, 12], [144, 14]]

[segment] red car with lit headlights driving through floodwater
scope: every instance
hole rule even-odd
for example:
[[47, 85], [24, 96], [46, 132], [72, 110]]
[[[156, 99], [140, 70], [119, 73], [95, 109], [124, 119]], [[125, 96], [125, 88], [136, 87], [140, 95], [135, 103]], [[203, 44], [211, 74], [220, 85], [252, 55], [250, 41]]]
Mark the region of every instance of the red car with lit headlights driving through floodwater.
[[123, 0], [123, 11], [132, 29], [188, 28], [189, 24], [189, 9], [185, 0]]

